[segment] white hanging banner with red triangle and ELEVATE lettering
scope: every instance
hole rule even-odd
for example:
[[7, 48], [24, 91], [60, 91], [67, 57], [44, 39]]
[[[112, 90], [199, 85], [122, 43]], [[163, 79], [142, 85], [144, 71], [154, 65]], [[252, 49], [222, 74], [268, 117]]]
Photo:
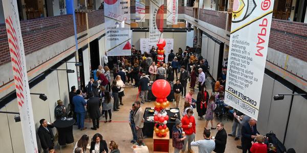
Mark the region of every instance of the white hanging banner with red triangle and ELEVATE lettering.
[[131, 55], [130, 1], [104, 1], [104, 26], [107, 56]]

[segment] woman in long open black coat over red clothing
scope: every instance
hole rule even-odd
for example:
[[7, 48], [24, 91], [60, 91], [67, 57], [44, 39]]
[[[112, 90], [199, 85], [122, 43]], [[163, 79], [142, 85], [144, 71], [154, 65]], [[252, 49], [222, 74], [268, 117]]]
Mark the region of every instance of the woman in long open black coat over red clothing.
[[204, 89], [202, 89], [197, 95], [196, 110], [200, 119], [203, 119], [203, 116], [206, 114], [207, 109], [205, 105], [208, 103], [209, 96], [210, 95], [206, 90], [206, 87], [204, 87]]

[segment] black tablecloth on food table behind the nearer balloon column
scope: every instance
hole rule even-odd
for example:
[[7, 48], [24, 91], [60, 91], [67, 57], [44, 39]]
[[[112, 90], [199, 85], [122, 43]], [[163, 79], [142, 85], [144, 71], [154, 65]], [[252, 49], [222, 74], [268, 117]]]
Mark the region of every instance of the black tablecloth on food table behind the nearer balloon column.
[[[147, 107], [145, 109], [145, 112], [144, 112], [144, 127], [143, 127], [143, 135], [144, 136], [147, 136], [147, 137], [152, 137], [153, 135], [153, 126], [155, 126], [155, 122], [150, 122], [150, 121], [147, 121], [147, 117], [148, 116], [153, 116], [153, 113], [149, 113], [147, 110], [149, 110], [150, 108]], [[170, 109], [173, 109], [173, 108], [170, 108]], [[171, 113], [170, 110], [167, 110], [167, 115], [169, 117], [169, 119], [167, 120], [167, 124], [166, 126], [168, 127], [169, 129], [169, 137], [171, 138], [171, 133], [172, 133], [172, 127], [175, 125], [175, 121], [173, 120], [170, 120], [170, 117], [171, 116], [174, 116], [175, 114], [178, 115], [178, 119], [180, 119], [180, 111], [178, 113]]]

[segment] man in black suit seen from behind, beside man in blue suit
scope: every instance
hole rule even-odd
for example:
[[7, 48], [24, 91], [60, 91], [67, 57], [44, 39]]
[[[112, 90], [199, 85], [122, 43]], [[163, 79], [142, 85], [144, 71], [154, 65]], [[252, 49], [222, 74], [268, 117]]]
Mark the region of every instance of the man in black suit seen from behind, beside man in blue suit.
[[91, 129], [97, 130], [97, 128], [99, 128], [99, 118], [101, 116], [101, 101], [99, 97], [94, 97], [94, 94], [92, 92], [89, 93], [89, 97], [90, 99], [87, 100], [86, 109], [90, 113], [90, 117], [93, 120], [93, 127], [91, 127]]

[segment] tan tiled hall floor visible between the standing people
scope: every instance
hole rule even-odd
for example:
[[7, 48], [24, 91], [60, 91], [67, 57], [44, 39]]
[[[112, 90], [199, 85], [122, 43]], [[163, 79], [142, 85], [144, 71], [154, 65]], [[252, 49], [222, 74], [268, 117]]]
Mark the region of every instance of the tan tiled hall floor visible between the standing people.
[[[209, 81], [206, 82], [206, 86], [207, 86], [208, 92], [211, 93], [211, 85]], [[136, 100], [138, 90], [137, 88], [133, 88], [127, 85], [124, 92], [125, 92], [125, 96], [123, 97], [124, 106], [120, 106], [120, 110], [118, 112], [112, 112], [112, 122], [111, 123], [109, 122], [104, 123], [103, 122], [104, 118], [101, 117], [100, 118], [100, 128], [97, 131], [90, 129], [90, 127], [92, 127], [93, 124], [89, 122], [88, 118], [85, 120], [85, 126], [87, 127], [87, 130], [80, 131], [77, 129], [77, 126], [74, 125], [73, 133], [74, 133], [75, 142], [78, 141], [83, 134], [87, 134], [90, 136], [90, 138], [92, 138], [94, 134], [100, 133], [103, 136], [103, 139], [107, 141], [107, 143], [111, 140], [114, 140], [116, 143], [118, 143], [119, 149], [121, 152], [133, 152], [133, 150], [131, 149], [132, 144], [130, 143], [132, 139], [132, 134], [131, 134], [130, 126], [127, 120], [128, 120], [129, 110], [131, 108], [131, 105]], [[197, 92], [198, 92], [198, 89], [196, 89], [196, 92], [193, 95], [195, 99], [196, 99]], [[183, 109], [183, 104], [184, 104], [184, 99], [181, 98], [180, 110]], [[150, 103], [145, 103], [141, 105], [143, 109], [146, 107], [153, 107], [153, 106], [154, 106], [153, 101], [151, 101]], [[171, 103], [170, 107], [175, 107], [175, 103]], [[194, 110], [194, 112], [195, 112], [195, 116], [197, 116], [196, 110]], [[196, 119], [195, 140], [204, 139], [202, 133], [205, 127], [205, 120], [199, 120], [196, 117], [195, 119]], [[214, 119], [214, 126], [216, 126], [216, 123], [218, 121], [220, 120]], [[227, 134], [231, 133], [232, 120], [227, 121], [227, 119], [226, 120], [223, 119], [222, 122], [224, 122], [224, 127], [225, 127]], [[209, 128], [211, 127], [210, 123], [208, 127]], [[215, 136], [216, 132], [217, 130], [211, 130], [211, 135]], [[169, 152], [173, 152], [173, 147], [172, 147], [171, 142], [172, 140], [170, 139]], [[153, 152], [152, 138], [144, 139], [144, 143], [148, 146], [149, 152]], [[229, 152], [229, 153], [242, 152], [242, 150], [236, 148], [236, 145], [239, 145], [239, 144], [240, 144], [240, 140], [235, 141], [233, 137], [228, 137], [225, 152]], [[198, 147], [192, 147], [192, 149], [194, 152], [198, 152]], [[56, 152], [60, 152], [59, 147], [56, 149]], [[73, 152], [73, 144], [62, 146], [61, 152]], [[86, 152], [89, 152], [89, 151], [87, 150]]]

